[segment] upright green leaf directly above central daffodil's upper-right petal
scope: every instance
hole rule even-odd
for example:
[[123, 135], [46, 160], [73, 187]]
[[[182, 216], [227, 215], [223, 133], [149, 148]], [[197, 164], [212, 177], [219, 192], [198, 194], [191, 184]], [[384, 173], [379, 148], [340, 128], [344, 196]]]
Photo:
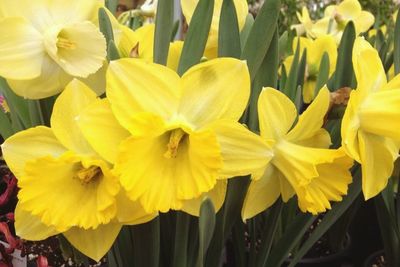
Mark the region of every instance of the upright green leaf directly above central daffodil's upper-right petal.
[[238, 18], [233, 0], [223, 0], [218, 30], [218, 57], [239, 58], [241, 53]]

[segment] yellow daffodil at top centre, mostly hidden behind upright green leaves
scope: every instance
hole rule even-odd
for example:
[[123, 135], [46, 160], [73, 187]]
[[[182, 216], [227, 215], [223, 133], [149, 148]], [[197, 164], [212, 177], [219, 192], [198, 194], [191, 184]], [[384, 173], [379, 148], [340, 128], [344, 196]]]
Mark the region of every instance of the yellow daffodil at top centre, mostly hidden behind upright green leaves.
[[[185, 15], [186, 21], [190, 24], [194, 10], [199, 0], [181, 0], [182, 12]], [[221, 7], [223, 0], [214, 1], [214, 13], [211, 21], [210, 33], [204, 55], [209, 58], [216, 58], [218, 54], [218, 28], [219, 18], [221, 15]], [[243, 29], [246, 22], [247, 14], [249, 13], [249, 7], [246, 0], [233, 0], [236, 8], [236, 15], [238, 18], [239, 30]]]

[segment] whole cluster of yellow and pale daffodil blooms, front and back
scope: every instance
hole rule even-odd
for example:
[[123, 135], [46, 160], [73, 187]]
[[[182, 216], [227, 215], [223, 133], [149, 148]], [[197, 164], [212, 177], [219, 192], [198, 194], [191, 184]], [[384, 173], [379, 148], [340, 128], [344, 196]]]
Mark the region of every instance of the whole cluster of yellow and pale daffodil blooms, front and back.
[[[188, 22], [197, 2], [182, 1]], [[242, 28], [247, 3], [234, 2]], [[108, 62], [98, 27], [100, 1], [0, 2], [0, 76], [24, 98], [61, 93], [50, 125], [20, 131], [2, 144], [20, 188], [19, 236], [42, 240], [63, 234], [98, 260], [123, 225], [170, 210], [199, 216], [205, 197], [219, 210], [227, 181], [236, 176], [251, 177], [243, 220], [279, 197], [287, 202], [297, 196], [303, 212], [330, 209], [331, 201], [347, 193], [353, 160], [362, 166], [365, 198], [386, 186], [400, 146], [400, 77], [387, 82], [378, 52], [361, 37], [356, 40], [358, 85], [338, 149], [329, 148], [323, 128], [331, 94], [315, 88], [325, 54], [333, 73], [344, 24], [353, 20], [360, 33], [373, 17], [353, 0], [329, 7], [316, 23], [303, 11], [302, 25], [312, 39], [294, 43], [301, 53], [307, 50], [303, 97], [311, 104], [298, 115], [285, 94], [264, 88], [258, 99], [260, 133], [253, 133], [239, 123], [251, 91], [247, 64], [216, 58], [221, 5], [216, 1], [205, 62], [179, 76], [182, 41], [170, 44], [167, 66], [152, 63], [154, 25], [132, 31], [111, 14], [122, 58]], [[324, 23], [329, 29], [321, 30]], [[286, 69], [292, 61], [285, 60]]]

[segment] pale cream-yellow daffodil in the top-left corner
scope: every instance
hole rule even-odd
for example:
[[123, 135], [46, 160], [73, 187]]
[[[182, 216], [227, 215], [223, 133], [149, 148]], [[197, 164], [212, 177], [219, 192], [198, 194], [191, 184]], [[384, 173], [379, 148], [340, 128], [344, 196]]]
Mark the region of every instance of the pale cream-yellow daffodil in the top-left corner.
[[106, 56], [98, 0], [0, 2], [0, 76], [20, 96], [59, 93], [97, 72]]

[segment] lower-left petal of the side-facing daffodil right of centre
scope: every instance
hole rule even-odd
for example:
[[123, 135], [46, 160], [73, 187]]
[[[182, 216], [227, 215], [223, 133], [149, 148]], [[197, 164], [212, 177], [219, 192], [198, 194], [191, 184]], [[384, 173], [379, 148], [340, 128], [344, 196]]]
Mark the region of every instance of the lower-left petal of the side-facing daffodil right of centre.
[[253, 218], [271, 207], [280, 193], [277, 169], [273, 165], [269, 165], [259, 180], [252, 180], [250, 183], [242, 208], [243, 221]]

